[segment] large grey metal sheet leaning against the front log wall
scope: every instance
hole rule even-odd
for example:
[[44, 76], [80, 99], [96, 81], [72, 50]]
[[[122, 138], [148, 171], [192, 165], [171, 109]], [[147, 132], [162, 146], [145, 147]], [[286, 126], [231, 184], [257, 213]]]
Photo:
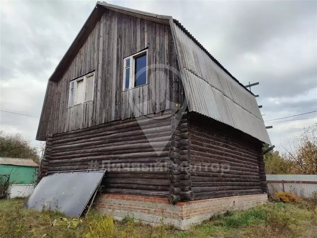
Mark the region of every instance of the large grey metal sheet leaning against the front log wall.
[[29, 209], [57, 209], [79, 217], [98, 188], [106, 169], [47, 173], [24, 202]]

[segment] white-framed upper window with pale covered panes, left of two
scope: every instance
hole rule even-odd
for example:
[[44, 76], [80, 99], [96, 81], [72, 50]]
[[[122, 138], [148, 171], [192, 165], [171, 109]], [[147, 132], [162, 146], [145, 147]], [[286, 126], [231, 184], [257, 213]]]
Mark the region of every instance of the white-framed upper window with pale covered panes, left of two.
[[93, 100], [94, 72], [69, 82], [68, 107]]

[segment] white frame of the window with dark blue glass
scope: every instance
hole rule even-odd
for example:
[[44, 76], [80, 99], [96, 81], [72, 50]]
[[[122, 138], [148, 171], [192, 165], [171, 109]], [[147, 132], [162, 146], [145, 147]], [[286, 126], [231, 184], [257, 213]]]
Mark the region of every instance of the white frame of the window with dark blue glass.
[[[133, 88], [138, 88], [138, 87], [141, 87], [141, 86], [144, 86], [148, 83], [148, 80], [147, 80], [147, 71], [148, 71], [148, 53], [147, 53], [148, 49], [145, 49], [145, 50], [142, 50], [132, 56], [128, 56], [126, 58], [123, 59], [123, 91], [126, 91], [126, 90], [129, 90], [129, 89], [133, 89]], [[142, 55], [146, 55], [146, 83], [145, 84], [142, 84], [142, 85], [139, 85], [139, 86], [136, 86], [134, 87], [134, 80], [135, 80], [135, 58], [139, 57], [139, 56], [142, 56]], [[126, 60], [127, 59], [130, 59], [130, 66], [126, 67]], [[130, 75], [129, 75], [129, 88], [126, 89], [126, 69], [127, 68], [130, 68]]]

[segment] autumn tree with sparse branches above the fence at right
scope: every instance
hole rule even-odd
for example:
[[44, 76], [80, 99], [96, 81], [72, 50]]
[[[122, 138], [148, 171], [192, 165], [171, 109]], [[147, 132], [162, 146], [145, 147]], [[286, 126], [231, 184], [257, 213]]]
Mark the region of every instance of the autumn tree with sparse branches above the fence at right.
[[293, 145], [283, 147], [284, 159], [292, 161], [291, 173], [317, 175], [317, 123], [315, 128], [304, 128], [299, 136], [294, 137]]

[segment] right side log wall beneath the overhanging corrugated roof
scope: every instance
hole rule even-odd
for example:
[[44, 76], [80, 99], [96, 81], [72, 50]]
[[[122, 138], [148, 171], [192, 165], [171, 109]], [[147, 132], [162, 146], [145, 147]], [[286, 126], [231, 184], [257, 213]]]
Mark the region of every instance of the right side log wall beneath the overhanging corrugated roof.
[[197, 113], [189, 113], [188, 125], [195, 200], [265, 191], [258, 140]]

